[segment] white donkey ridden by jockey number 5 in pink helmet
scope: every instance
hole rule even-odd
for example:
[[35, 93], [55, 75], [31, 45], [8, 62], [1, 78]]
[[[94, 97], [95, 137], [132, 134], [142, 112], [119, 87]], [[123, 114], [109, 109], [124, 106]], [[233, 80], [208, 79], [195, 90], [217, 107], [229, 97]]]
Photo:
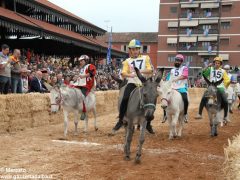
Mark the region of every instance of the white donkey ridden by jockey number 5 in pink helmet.
[[[161, 96], [161, 107], [166, 110], [169, 123], [169, 139], [182, 136], [184, 124], [184, 103], [181, 94], [172, 88], [172, 81], [161, 81], [158, 88]], [[179, 130], [177, 132], [177, 123]]]

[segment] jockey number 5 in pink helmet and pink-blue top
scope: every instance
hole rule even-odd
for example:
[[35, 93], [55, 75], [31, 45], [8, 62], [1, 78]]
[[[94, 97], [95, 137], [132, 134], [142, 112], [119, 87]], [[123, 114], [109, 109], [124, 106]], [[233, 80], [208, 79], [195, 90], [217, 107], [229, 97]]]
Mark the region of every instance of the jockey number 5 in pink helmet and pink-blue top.
[[[188, 67], [182, 65], [183, 61], [184, 57], [182, 54], [177, 54], [175, 56], [175, 67], [171, 69], [170, 73], [167, 75], [166, 80], [172, 80], [173, 89], [177, 90], [181, 94], [184, 103], [184, 122], [188, 123]], [[166, 120], [166, 112], [164, 112], [162, 123], [164, 123]]]

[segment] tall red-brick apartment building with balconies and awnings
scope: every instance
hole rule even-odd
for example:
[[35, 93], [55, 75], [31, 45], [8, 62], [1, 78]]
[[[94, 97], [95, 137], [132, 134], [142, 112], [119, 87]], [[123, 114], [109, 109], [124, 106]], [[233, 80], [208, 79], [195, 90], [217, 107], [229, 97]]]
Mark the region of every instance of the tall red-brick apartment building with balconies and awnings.
[[204, 62], [221, 56], [239, 66], [240, 0], [160, 0], [158, 67], [182, 53], [195, 78]]

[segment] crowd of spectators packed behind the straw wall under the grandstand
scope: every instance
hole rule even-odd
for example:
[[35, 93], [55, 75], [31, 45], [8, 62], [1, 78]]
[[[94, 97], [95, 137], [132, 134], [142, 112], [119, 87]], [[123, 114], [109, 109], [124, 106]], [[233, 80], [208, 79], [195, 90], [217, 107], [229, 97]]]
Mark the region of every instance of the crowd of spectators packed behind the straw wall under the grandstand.
[[[0, 52], [0, 93], [49, 92], [55, 85], [74, 84], [79, 75], [78, 57], [71, 60], [35, 54], [30, 49], [14, 49], [6, 44]], [[118, 74], [120, 65], [115, 59], [105, 65], [103, 59], [93, 60], [97, 67], [96, 90], [115, 90], [118, 84], [111, 74]]]

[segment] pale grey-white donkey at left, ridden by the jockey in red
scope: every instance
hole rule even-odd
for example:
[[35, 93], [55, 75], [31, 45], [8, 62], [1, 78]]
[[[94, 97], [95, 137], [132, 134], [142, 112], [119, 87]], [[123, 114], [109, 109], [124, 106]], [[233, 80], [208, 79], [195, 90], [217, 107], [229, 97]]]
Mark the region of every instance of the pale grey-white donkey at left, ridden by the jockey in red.
[[50, 91], [50, 100], [51, 100], [51, 112], [57, 112], [60, 109], [60, 106], [63, 107], [64, 113], [64, 136], [67, 136], [68, 131], [68, 114], [69, 112], [74, 113], [74, 124], [75, 124], [75, 135], [78, 134], [77, 126], [79, 120], [79, 113], [83, 109], [83, 101], [86, 105], [86, 118], [85, 118], [85, 128], [84, 132], [88, 130], [88, 112], [93, 111], [94, 115], [94, 127], [97, 131], [97, 120], [96, 120], [96, 96], [94, 91], [91, 91], [87, 97], [82, 94], [81, 90], [77, 88], [69, 87], [54, 87]]

